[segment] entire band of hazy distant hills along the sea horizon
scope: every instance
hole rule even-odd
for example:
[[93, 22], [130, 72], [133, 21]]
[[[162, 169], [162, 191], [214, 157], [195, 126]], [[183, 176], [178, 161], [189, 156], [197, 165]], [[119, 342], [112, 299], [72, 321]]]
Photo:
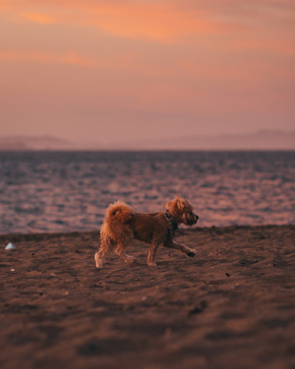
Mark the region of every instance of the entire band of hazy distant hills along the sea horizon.
[[51, 136], [0, 137], [0, 150], [295, 150], [295, 131], [263, 130], [249, 134], [190, 135], [169, 139], [70, 142]]

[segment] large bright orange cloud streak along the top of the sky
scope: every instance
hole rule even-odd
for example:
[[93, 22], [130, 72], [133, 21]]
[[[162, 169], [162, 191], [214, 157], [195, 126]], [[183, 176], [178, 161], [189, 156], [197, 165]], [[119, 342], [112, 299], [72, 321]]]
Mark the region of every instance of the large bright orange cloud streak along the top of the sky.
[[[38, 11], [44, 7], [48, 9], [46, 13]], [[208, 11], [186, 8], [177, 1], [19, 0], [14, 1], [10, 10], [37, 23], [94, 26], [118, 37], [169, 43], [188, 35], [222, 32], [236, 27], [208, 17]]]

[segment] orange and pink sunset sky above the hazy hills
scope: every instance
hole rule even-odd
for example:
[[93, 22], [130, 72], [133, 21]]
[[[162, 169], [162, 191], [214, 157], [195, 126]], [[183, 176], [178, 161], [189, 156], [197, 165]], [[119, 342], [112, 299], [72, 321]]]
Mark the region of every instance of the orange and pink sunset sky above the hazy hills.
[[294, 0], [0, 0], [0, 135], [294, 130]]

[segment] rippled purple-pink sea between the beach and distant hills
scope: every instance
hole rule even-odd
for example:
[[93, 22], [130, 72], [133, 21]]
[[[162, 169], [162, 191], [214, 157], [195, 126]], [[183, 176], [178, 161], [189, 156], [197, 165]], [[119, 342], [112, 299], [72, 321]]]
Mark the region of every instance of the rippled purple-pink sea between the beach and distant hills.
[[165, 210], [198, 227], [295, 223], [294, 151], [1, 151], [0, 233], [99, 230], [108, 204]]

